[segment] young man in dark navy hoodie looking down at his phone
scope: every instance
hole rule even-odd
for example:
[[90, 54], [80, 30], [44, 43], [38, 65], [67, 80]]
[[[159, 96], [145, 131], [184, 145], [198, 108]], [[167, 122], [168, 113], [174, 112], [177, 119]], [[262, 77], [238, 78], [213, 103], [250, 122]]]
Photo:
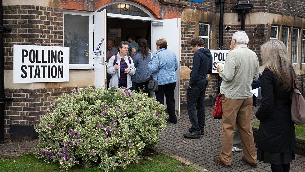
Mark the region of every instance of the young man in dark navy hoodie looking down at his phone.
[[[204, 40], [196, 37], [191, 40], [191, 46], [195, 51], [190, 82], [187, 87], [187, 111], [191, 121], [191, 128], [186, 138], [200, 138], [204, 134], [205, 122], [205, 90], [207, 89], [207, 74], [212, 73], [212, 55], [210, 50], [204, 48]], [[197, 113], [198, 111], [198, 113]]]

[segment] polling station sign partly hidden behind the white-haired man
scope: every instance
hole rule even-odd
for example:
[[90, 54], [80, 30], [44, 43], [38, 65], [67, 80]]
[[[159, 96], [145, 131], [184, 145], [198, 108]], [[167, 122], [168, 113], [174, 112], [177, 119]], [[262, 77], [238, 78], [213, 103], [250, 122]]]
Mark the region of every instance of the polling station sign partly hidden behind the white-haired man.
[[227, 54], [230, 50], [210, 50], [213, 57], [212, 73], [218, 73], [216, 68], [218, 65], [224, 67], [227, 59]]

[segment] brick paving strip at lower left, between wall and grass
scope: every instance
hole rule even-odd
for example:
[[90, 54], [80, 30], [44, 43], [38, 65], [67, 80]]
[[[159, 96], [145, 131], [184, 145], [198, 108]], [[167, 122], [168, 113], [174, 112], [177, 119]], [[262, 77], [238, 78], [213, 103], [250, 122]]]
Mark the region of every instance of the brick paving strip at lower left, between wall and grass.
[[0, 144], [0, 158], [16, 159], [22, 154], [32, 152], [37, 144], [38, 140]]

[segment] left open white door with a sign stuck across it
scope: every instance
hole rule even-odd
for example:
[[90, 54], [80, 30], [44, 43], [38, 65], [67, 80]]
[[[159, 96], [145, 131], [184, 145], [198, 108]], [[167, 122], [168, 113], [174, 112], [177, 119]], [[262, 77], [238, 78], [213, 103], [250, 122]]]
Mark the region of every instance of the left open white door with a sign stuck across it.
[[99, 50], [102, 51], [102, 57], [94, 57], [93, 65], [95, 72], [95, 87], [105, 88], [106, 78], [106, 65], [105, 61], [107, 57], [106, 46], [107, 46], [107, 13], [106, 10], [101, 12], [94, 12], [93, 14], [93, 48], [96, 49], [99, 46]]

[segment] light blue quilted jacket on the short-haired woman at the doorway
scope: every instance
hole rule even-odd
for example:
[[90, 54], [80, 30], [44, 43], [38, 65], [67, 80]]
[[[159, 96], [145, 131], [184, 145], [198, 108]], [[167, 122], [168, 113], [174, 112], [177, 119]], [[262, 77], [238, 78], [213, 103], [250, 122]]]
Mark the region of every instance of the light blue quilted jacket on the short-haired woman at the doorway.
[[153, 80], [157, 81], [158, 75], [158, 56], [160, 59], [160, 69], [158, 77], [158, 85], [170, 84], [177, 82], [176, 70], [178, 69], [178, 61], [176, 55], [165, 48], [158, 50], [153, 55], [153, 60], [148, 63], [148, 69], [153, 72]]

